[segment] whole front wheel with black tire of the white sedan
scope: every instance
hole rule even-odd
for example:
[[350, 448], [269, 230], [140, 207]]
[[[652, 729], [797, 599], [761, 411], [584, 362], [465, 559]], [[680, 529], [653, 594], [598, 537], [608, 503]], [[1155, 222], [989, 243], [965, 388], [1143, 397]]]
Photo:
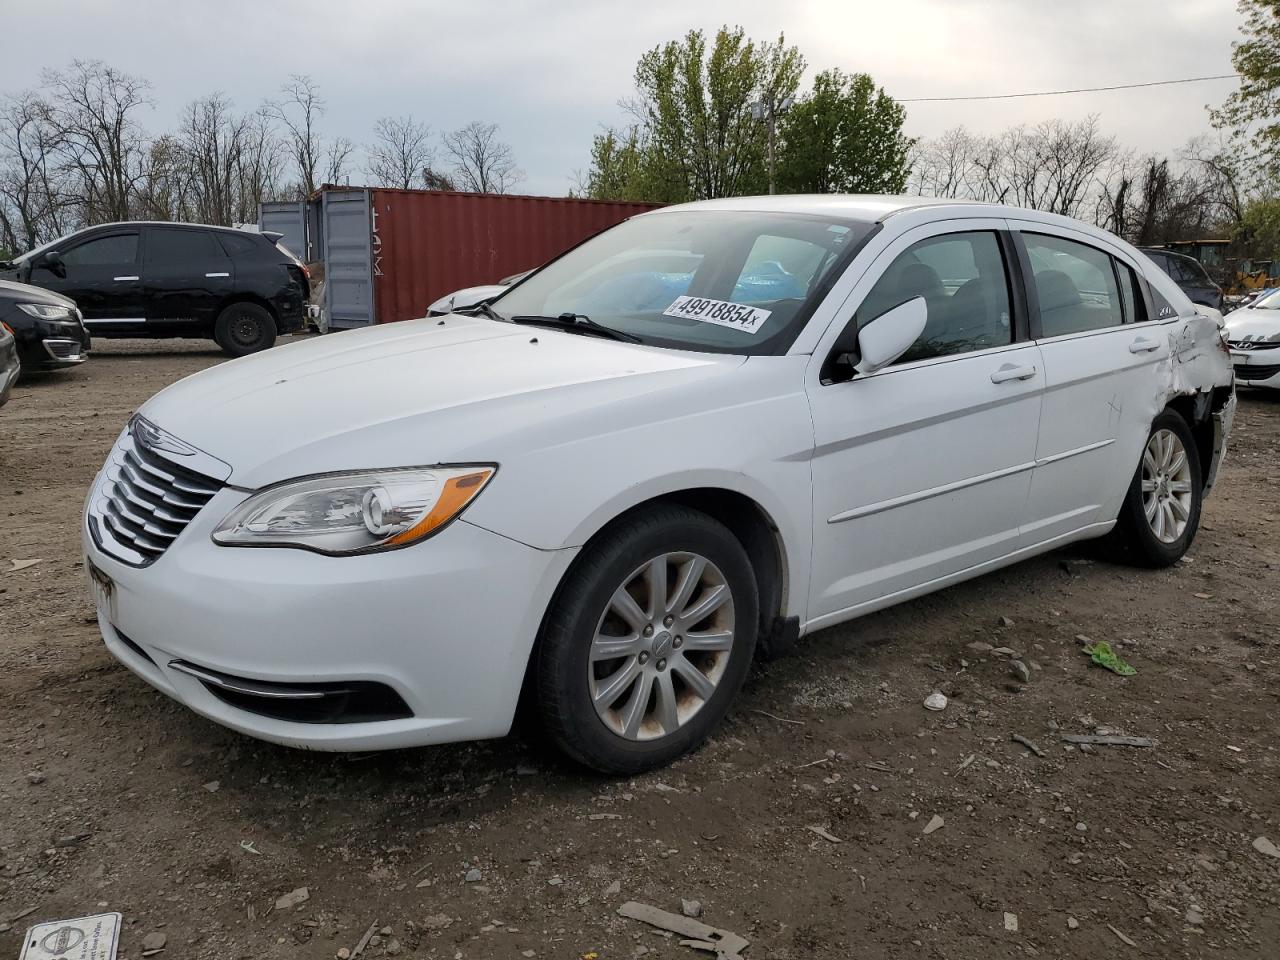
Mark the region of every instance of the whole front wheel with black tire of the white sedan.
[[727, 527], [680, 506], [628, 517], [588, 547], [547, 616], [535, 672], [543, 726], [602, 773], [671, 763], [728, 712], [758, 630], [755, 575]]

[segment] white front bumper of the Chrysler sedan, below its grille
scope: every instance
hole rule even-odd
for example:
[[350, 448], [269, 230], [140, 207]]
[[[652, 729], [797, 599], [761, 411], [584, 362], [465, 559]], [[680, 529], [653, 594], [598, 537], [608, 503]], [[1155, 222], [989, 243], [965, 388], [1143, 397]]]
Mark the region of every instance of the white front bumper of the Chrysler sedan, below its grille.
[[[378, 750], [509, 730], [543, 611], [573, 550], [536, 550], [465, 520], [416, 547], [364, 557], [215, 545], [212, 529], [243, 499], [221, 490], [145, 568], [104, 553], [82, 525], [91, 573], [111, 584], [97, 590], [97, 616], [116, 659], [196, 713], [288, 746]], [[389, 690], [406, 709], [374, 721], [287, 719], [201, 673], [251, 692]]]

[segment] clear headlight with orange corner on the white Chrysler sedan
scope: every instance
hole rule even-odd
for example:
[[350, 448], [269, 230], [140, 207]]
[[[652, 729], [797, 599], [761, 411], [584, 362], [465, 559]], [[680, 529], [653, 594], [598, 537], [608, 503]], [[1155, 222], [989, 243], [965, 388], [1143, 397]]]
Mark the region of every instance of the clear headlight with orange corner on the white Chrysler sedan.
[[214, 543], [333, 557], [408, 547], [466, 509], [495, 471], [494, 465], [410, 467], [288, 480], [232, 511]]

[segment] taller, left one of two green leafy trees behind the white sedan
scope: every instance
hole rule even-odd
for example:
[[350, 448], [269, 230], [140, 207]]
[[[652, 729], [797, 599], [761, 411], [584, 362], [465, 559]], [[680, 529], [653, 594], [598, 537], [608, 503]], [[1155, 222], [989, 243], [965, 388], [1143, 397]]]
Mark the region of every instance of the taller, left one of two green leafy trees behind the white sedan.
[[710, 45], [690, 31], [654, 47], [636, 64], [635, 127], [593, 143], [589, 195], [678, 204], [765, 192], [767, 131], [750, 104], [794, 96], [803, 72], [783, 37], [755, 42], [741, 27], [721, 28]]

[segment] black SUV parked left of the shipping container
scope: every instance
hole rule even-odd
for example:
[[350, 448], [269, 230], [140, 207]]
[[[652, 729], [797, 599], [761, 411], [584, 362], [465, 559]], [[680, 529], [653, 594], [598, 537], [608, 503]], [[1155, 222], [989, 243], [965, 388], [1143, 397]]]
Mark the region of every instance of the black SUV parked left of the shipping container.
[[70, 297], [95, 337], [212, 338], [233, 357], [302, 329], [306, 268], [278, 233], [178, 223], [90, 227], [0, 264]]

